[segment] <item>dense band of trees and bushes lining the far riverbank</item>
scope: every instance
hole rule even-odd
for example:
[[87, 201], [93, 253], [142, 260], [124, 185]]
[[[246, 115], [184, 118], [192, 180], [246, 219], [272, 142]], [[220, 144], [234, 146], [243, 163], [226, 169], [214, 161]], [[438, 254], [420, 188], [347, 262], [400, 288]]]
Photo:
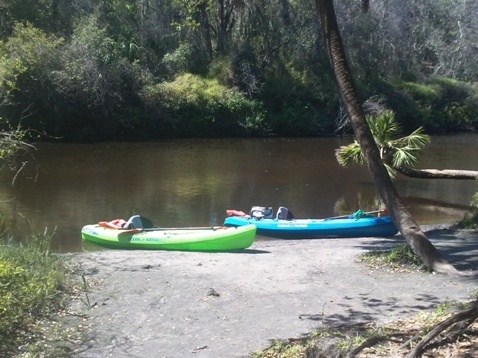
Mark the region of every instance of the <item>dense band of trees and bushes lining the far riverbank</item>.
[[[478, 4], [337, 1], [362, 99], [478, 127]], [[340, 134], [313, 1], [0, 0], [0, 118], [64, 140]]]

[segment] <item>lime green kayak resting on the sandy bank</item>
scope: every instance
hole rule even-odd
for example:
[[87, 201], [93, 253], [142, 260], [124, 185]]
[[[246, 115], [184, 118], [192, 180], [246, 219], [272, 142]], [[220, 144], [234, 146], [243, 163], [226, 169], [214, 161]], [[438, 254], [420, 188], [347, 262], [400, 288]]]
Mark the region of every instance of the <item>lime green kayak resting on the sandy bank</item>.
[[116, 249], [228, 251], [245, 249], [256, 236], [255, 225], [231, 227], [132, 228], [86, 225], [83, 240]]

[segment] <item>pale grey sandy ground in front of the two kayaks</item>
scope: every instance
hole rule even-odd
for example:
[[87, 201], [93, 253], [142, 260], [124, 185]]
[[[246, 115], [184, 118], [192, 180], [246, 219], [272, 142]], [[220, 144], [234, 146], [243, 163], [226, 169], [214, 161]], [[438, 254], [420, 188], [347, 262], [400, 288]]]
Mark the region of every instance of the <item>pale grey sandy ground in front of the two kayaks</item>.
[[[478, 232], [437, 230], [457, 268], [478, 270]], [[400, 240], [401, 242], [401, 240]], [[270, 340], [324, 325], [389, 320], [467, 301], [473, 276], [390, 273], [355, 262], [395, 239], [258, 240], [237, 253], [80, 253], [90, 288], [90, 339], [76, 357], [247, 357]]]

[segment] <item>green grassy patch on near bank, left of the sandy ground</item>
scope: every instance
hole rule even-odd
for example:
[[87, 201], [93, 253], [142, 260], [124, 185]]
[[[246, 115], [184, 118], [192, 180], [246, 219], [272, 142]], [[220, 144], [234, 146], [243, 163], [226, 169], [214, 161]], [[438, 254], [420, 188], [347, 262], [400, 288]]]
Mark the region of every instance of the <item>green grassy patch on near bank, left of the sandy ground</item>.
[[68, 332], [53, 318], [64, 309], [72, 285], [67, 261], [50, 252], [53, 234], [45, 230], [24, 244], [0, 238], [2, 357], [62, 356], [51, 342]]

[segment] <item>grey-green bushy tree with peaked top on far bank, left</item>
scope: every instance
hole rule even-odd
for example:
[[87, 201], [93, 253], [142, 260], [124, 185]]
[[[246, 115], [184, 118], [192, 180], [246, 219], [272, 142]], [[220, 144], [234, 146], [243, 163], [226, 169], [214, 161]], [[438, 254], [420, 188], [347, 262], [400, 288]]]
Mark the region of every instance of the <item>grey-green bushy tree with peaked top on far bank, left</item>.
[[95, 15], [83, 17], [56, 51], [48, 79], [57, 112], [44, 114], [49, 120], [41, 129], [67, 140], [124, 135], [136, 120], [134, 87], [143, 79], [131, 56]]

